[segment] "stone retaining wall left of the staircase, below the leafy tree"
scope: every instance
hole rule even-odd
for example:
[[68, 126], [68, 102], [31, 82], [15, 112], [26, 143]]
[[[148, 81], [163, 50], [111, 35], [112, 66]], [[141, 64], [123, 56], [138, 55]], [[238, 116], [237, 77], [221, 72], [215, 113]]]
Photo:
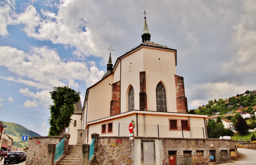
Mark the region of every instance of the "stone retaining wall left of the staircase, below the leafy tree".
[[[68, 150], [69, 134], [62, 136], [41, 136], [29, 138], [29, 149], [27, 152], [26, 165], [45, 165], [48, 153], [48, 144], [58, 144], [65, 138], [65, 148]], [[36, 142], [40, 141], [40, 144]]]

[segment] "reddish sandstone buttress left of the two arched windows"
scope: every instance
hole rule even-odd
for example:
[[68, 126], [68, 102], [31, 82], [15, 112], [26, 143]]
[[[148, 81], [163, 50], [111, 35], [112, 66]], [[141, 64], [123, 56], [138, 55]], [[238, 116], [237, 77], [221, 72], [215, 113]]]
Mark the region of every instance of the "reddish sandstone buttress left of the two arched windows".
[[112, 100], [110, 101], [110, 116], [120, 114], [120, 81], [112, 84]]

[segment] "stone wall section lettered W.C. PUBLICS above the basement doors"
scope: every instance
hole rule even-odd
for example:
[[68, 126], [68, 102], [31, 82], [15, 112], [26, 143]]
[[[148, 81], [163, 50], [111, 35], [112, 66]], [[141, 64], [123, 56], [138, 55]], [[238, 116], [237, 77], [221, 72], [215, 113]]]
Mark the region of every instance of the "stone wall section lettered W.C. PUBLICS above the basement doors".
[[[211, 147], [213, 144], [213, 148]], [[207, 164], [204, 161], [209, 159], [209, 150], [216, 150], [220, 152], [221, 150], [236, 149], [236, 141], [229, 139], [184, 139], [184, 138], [173, 138], [173, 139], [163, 139], [162, 140], [162, 157], [164, 159], [168, 158], [168, 151], [176, 151], [176, 155], [183, 155], [183, 151], [191, 151], [193, 164]], [[193, 155], [197, 150], [203, 150], [203, 156], [197, 157]], [[235, 151], [237, 156], [237, 150]], [[204, 160], [204, 161], [203, 161]], [[168, 162], [163, 163], [163, 165], [169, 165]]]

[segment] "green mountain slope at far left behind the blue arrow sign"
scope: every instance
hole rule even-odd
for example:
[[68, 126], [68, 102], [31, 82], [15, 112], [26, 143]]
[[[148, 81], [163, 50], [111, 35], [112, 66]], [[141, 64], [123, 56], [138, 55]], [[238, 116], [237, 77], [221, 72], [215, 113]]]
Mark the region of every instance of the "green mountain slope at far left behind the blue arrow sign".
[[16, 137], [20, 137], [22, 135], [28, 135], [28, 137], [38, 137], [41, 136], [38, 133], [35, 133], [32, 130], [28, 130], [27, 128], [23, 127], [22, 125], [13, 123], [13, 122], [5, 122], [1, 121], [5, 127], [5, 133], [9, 135], [13, 135]]

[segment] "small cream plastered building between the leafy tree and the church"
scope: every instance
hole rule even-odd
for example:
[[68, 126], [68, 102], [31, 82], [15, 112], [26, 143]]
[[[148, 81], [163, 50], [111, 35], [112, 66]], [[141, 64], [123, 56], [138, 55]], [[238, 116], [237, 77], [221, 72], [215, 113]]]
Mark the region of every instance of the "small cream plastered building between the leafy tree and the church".
[[[71, 117], [72, 123], [70, 123], [68, 127], [68, 133], [70, 134], [69, 138], [69, 145], [74, 145], [76, 144], [77, 136], [78, 136], [78, 129], [81, 129], [82, 125], [82, 120], [81, 120], [81, 115], [80, 114], [74, 114]], [[74, 127], [74, 121], [76, 120], [76, 127]]]

